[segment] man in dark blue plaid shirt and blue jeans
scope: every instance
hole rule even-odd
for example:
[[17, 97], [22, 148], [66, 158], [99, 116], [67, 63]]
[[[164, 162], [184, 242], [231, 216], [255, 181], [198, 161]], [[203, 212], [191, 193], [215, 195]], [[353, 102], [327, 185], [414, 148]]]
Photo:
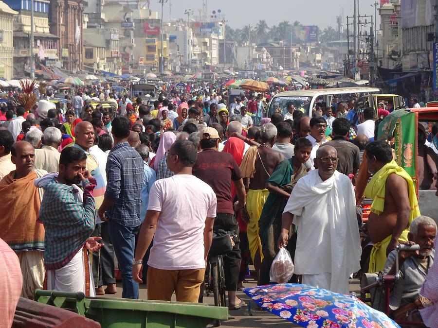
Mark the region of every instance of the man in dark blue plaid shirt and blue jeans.
[[109, 222], [110, 238], [122, 273], [122, 297], [137, 299], [138, 283], [132, 279], [132, 259], [141, 224], [143, 159], [129, 146], [129, 119], [118, 116], [111, 126], [114, 147], [108, 155], [107, 190], [99, 216]]

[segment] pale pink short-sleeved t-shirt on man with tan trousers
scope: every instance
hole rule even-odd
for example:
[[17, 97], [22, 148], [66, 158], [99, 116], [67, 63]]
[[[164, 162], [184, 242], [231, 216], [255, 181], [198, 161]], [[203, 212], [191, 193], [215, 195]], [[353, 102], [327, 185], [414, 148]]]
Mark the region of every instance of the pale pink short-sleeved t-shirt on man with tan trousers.
[[154, 183], [147, 209], [161, 212], [147, 264], [161, 270], [205, 268], [205, 219], [216, 217], [213, 189], [194, 175], [176, 174]]

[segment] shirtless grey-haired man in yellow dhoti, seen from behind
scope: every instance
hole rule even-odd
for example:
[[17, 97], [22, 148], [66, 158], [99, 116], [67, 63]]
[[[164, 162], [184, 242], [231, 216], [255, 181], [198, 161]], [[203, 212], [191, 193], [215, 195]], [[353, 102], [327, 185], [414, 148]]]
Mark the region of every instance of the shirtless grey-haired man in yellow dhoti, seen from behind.
[[[246, 152], [242, 161], [242, 165], [240, 166], [241, 171], [244, 174], [244, 178], [246, 178], [246, 203], [249, 214], [247, 234], [251, 258], [256, 269], [257, 281], [260, 272], [261, 261], [263, 259], [260, 237], [258, 236], [258, 220], [260, 219], [260, 214], [266, 198], [269, 196], [269, 190], [266, 189], [266, 181], [274, 172], [277, 165], [284, 159], [283, 155], [271, 149], [275, 143], [276, 136], [277, 128], [275, 125], [272, 123], [264, 124], [260, 135], [262, 144], [257, 148], [250, 148], [251, 151], [248, 150]], [[252, 161], [249, 158], [252, 156], [255, 156], [254, 167], [250, 170], [245, 170], [245, 166], [247, 164], [248, 166], [251, 166]], [[255, 169], [255, 172], [253, 169]], [[245, 172], [254, 172], [254, 175], [250, 176], [250, 174], [245, 174]]]

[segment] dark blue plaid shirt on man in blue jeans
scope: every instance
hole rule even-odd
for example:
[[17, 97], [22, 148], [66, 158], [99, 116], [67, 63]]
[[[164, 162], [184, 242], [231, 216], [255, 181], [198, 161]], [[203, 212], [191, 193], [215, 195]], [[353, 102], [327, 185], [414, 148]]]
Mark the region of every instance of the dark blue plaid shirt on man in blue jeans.
[[125, 226], [138, 226], [144, 162], [127, 141], [112, 147], [107, 160], [105, 198], [114, 206], [105, 213], [109, 220]]

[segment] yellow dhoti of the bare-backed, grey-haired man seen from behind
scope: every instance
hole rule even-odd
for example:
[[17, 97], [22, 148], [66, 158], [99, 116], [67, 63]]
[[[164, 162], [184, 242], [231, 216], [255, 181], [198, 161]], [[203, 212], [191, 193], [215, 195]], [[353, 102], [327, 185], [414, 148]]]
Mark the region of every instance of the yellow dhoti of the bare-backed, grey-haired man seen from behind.
[[266, 199], [269, 196], [267, 189], [248, 190], [246, 195], [246, 209], [250, 217], [246, 233], [248, 234], [248, 243], [251, 252], [251, 259], [254, 262], [257, 250], [260, 251], [260, 259], [263, 259], [262, 246], [260, 237], [258, 236], [258, 220], [265, 205]]

